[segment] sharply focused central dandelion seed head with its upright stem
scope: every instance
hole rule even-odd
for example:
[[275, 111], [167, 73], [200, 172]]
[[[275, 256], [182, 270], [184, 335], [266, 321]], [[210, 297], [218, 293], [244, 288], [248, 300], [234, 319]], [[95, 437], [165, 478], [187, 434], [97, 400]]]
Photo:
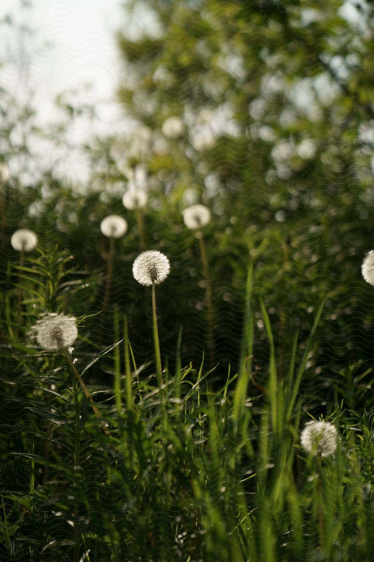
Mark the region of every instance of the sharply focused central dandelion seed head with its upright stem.
[[162, 383], [162, 367], [159, 334], [156, 314], [156, 292], [155, 285], [164, 281], [170, 271], [168, 258], [158, 250], [142, 252], [133, 262], [132, 274], [141, 285], [149, 287], [152, 285], [152, 312], [153, 312], [153, 339], [156, 354], [156, 368], [159, 386]]

